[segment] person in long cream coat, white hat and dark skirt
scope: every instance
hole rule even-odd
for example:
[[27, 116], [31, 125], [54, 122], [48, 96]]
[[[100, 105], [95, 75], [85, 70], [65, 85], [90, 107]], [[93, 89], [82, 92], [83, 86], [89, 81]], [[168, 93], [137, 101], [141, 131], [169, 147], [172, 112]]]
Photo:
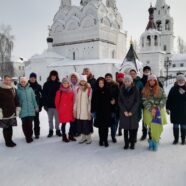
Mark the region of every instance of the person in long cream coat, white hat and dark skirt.
[[74, 104], [74, 116], [77, 119], [78, 131], [82, 134], [80, 144], [92, 142], [91, 97], [91, 87], [87, 83], [87, 77], [81, 75]]

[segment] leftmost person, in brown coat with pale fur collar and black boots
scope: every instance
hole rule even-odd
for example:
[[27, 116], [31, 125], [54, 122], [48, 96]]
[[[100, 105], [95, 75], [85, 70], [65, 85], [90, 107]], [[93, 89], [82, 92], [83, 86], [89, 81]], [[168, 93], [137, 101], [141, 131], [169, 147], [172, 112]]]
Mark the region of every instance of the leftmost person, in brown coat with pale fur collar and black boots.
[[19, 116], [19, 112], [20, 108], [16, 90], [12, 85], [12, 78], [6, 75], [0, 85], [0, 128], [3, 128], [3, 136], [7, 147], [16, 146], [12, 141], [12, 127], [17, 125], [16, 116]]

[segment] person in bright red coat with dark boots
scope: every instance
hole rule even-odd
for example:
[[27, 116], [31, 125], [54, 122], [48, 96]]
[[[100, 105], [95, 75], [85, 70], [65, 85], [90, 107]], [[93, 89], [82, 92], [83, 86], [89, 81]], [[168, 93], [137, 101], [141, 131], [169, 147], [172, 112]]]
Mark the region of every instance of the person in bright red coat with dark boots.
[[[74, 92], [67, 78], [63, 78], [60, 90], [56, 93], [55, 105], [58, 112], [59, 122], [62, 124], [62, 140], [64, 142], [76, 141], [73, 136], [74, 128]], [[70, 123], [69, 138], [66, 136], [66, 123]]]

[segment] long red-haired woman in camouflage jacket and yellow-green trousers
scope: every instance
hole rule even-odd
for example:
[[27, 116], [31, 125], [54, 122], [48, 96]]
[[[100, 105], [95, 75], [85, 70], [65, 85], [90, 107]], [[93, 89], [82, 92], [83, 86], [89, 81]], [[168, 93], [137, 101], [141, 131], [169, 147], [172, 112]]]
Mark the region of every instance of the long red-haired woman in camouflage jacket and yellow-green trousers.
[[166, 96], [163, 89], [159, 86], [155, 75], [149, 75], [142, 96], [144, 124], [150, 130], [149, 149], [156, 151], [163, 132], [163, 125], [167, 123], [167, 118], [164, 109]]

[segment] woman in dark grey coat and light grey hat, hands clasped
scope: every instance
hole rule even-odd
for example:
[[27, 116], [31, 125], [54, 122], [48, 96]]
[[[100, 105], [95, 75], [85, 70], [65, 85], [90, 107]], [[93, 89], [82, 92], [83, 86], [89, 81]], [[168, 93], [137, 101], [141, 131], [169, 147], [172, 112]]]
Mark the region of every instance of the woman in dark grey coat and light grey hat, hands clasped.
[[124, 86], [119, 95], [120, 107], [120, 128], [124, 129], [124, 149], [135, 148], [135, 139], [138, 130], [140, 94], [133, 85], [132, 77], [127, 75], [124, 78]]

